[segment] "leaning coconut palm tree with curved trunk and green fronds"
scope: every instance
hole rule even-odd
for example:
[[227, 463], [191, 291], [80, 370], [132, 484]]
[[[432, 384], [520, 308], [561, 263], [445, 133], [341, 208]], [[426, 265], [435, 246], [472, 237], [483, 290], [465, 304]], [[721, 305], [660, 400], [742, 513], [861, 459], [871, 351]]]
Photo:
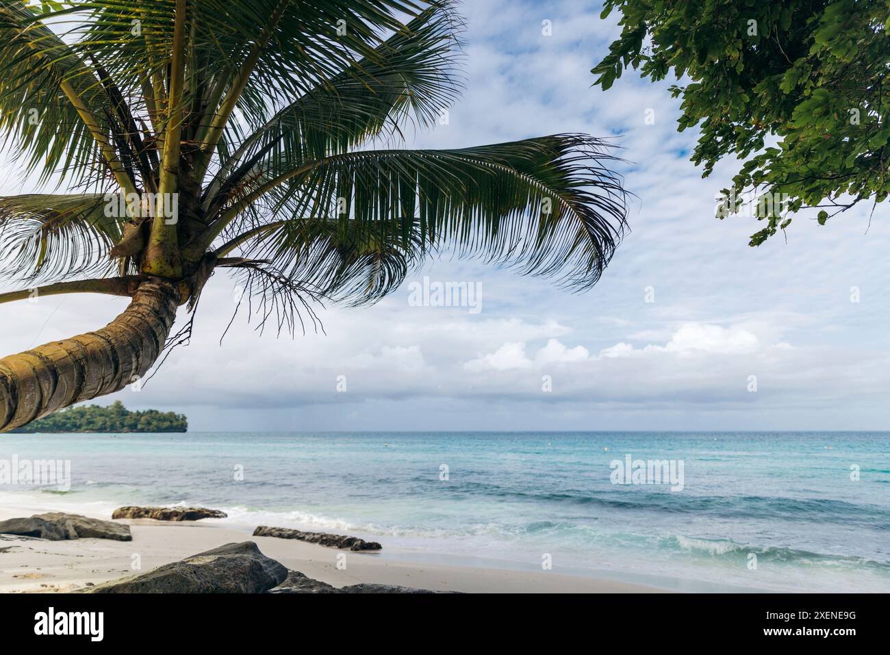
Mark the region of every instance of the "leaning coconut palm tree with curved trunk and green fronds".
[[447, 115], [461, 31], [442, 0], [0, 0], [0, 133], [72, 191], [0, 198], [2, 273], [28, 286], [0, 303], [132, 298], [0, 360], [0, 431], [144, 376], [217, 269], [279, 329], [445, 247], [591, 287], [626, 216], [608, 144], [390, 147]]

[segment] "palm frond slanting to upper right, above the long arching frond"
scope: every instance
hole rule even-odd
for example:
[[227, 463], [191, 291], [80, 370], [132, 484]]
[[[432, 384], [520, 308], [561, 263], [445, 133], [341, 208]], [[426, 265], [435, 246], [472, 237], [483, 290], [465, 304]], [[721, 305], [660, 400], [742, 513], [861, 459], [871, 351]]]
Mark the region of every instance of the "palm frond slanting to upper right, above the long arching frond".
[[[263, 158], [303, 162], [346, 152], [382, 133], [401, 133], [414, 120], [432, 125], [457, 98], [459, 34], [463, 23], [450, 4], [438, 4], [411, 20], [366, 57], [281, 109], [260, 129], [240, 138], [230, 125], [231, 154], [210, 184], [205, 206], [237, 186]], [[227, 140], [228, 141], [228, 140]]]

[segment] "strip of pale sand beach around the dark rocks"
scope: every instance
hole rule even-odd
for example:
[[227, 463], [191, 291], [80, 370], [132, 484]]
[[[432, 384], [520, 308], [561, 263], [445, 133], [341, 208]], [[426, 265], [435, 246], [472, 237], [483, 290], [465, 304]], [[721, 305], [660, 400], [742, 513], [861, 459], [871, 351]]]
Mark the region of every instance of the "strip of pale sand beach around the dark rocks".
[[[21, 508], [0, 508], [0, 521], [30, 516]], [[108, 516], [93, 518], [109, 519]], [[3, 535], [0, 540], [0, 592], [59, 593], [145, 572], [223, 544], [255, 541], [263, 554], [288, 569], [334, 586], [359, 583], [412, 586], [465, 593], [644, 593], [661, 590], [609, 579], [567, 576], [553, 570], [507, 570], [384, 559], [375, 553], [352, 553], [293, 539], [252, 537], [230, 525], [201, 522], [121, 520], [131, 526], [132, 541], [74, 539], [48, 541]], [[384, 545], [384, 548], [386, 546]], [[337, 554], [345, 554], [338, 569]], [[138, 555], [141, 569], [134, 570]]]

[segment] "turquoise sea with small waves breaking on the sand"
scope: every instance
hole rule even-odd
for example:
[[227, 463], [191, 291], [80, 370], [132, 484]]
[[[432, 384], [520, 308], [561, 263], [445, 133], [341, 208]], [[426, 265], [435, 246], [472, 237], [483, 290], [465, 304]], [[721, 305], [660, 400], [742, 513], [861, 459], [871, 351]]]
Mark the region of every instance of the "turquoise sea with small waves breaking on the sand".
[[[613, 484], [627, 455], [682, 462], [682, 489]], [[71, 488], [0, 484], [4, 506], [206, 505], [233, 524], [375, 538], [382, 556], [540, 570], [549, 555], [554, 571], [684, 588], [890, 591], [888, 433], [0, 437], [0, 460], [13, 456], [70, 460]]]

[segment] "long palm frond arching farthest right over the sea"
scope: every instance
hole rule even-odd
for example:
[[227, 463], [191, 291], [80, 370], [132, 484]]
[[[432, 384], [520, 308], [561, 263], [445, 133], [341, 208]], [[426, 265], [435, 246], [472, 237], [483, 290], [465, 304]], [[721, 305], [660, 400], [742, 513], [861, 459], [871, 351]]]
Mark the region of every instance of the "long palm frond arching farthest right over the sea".
[[[460, 150], [365, 150], [323, 158], [299, 174], [276, 175], [272, 162], [255, 184], [270, 189], [271, 215], [325, 217], [339, 238], [399, 250], [406, 263], [454, 248], [585, 289], [626, 226], [626, 192], [606, 166], [616, 159], [609, 150], [578, 134]], [[262, 215], [241, 214], [226, 235], [255, 228]], [[271, 244], [268, 251], [250, 252], [301, 274], [304, 263], [318, 265], [313, 244], [329, 233], [319, 224], [288, 222], [256, 237]], [[353, 290], [353, 299], [361, 297]]]

